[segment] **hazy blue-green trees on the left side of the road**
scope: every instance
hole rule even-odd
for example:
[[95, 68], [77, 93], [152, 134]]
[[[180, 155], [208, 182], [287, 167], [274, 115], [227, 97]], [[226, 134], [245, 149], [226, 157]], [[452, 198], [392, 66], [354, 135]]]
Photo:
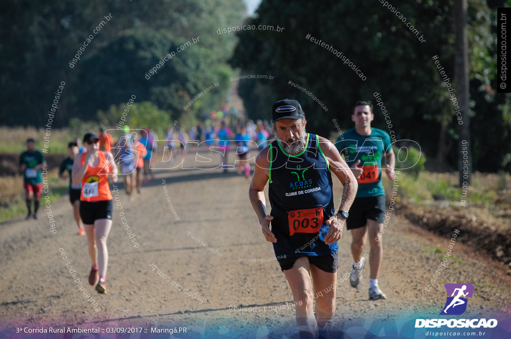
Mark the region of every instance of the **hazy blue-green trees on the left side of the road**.
[[[202, 96], [185, 114], [192, 115], [187, 120], [194, 120], [201, 110], [218, 109], [230, 87], [232, 71], [226, 59], [236, 37], [216, 31], [239, 25], [245, 7], [238, 0], [150, 4], [6, 0], [0, 11], [0, 124], [45, 125], [54, 92], [64, 81], [54, 119], [58, 128], [67, 126], [71, 118], [88, 120], [98, 109], [126, 104], [131, 95], [179, 118], [183, 105], [213, 83], [218, 83], [215, 91]], [[94, 33], [102, 21], [102, 28]], [[84, 48], [89, 35], [94, 38]], [[194, 38], [195, 44], [176, 52]], [[69, 67], [80, 48], [80, 60]], [[176, 55], [158, 64], [169, 53]], [[146, 79], [146, 72], [157, 64], [158, 73]], [[13, 112], [21, 112], [23, 119]]]

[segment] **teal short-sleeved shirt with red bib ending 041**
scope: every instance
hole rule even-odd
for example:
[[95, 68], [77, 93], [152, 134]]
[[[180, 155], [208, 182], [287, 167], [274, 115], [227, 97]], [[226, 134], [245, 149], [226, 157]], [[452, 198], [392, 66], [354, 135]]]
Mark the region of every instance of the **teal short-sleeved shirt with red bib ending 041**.
[[360, 135], [352, 128], [339, 135], [335, 147], [344, 156], [348, 166], [353, 166], [360, 160], [357, 166], [364, 169], [358, 178], [356, 198], [385, 195], [381, 173], [382, 156], [391, 150], [387, 132], [371, 127], [370, 135]]

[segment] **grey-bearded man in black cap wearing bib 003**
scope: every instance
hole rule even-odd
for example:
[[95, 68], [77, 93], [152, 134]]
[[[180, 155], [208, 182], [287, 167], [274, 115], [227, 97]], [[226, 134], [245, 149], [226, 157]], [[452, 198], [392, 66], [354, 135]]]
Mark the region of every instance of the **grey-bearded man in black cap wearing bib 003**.
[[[315, 338], [318, 330], [326, 337], [335, 310], [336, 290], [330, 286], [337, 286], [337, 240], [355, 199], [357, 179], [332, 142], [306, 133], [305, 115], [296, 100], [276, 102], [272, 114], [277, 140], [255, 159], [249, 198], [291, 287], [300, 337]], [[343, 184], [338, 214], [330, 171]], [[270, 215], [264, 195], [268, 181]]]

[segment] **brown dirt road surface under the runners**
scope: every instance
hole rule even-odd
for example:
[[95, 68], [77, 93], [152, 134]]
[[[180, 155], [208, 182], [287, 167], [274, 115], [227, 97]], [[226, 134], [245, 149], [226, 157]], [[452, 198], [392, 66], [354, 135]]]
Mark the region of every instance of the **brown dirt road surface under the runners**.
[[[218, 159], [214, 161], [219, 163]], [[248, 201], [249, 181], [237, 176], [236, 171], [223, 174], [220, 169], [158, 169], [155, 174], [156, 180], [145, 184], [142, 195], [132, 201], [127, 199], [122, 183], [117, 184], [118, 202], [108, 239], [107, 295], [98, 295], [87, 284], [90, 261], [86, 238], [75, 234], [67, 197], [51, 206], [55, 234], [51, 233], [45, 207], [37, 221], [19, 217], [0, 226], [0, 337], [32, 337], [13, 333], [16, 327], [41, 326], [141, 326], [149, 330], [186, 327], [186, 334], [174, 336], [194, 338], [298, 337], [295, 311], [285, 306], [292, 303], [291, 290]], [[335, 192], [338, 201], [338, 182]], [[132, 246], [120, 213], [126, 216], [140, 246]], [[383, 235], [384, 261], [379, 279], [387, 300], [368, 301], [368, 270], [364, 271], [360, 289], [352, 288], [347, 281], [339, 282], [331, 337], [339, 337], [340, 330], [346, 338], [405, 330], [413, 333], [416, 318], [438, 318], [446, 301], [443, 284], [450, 282], [474, 285], [474, 296], [463, 318], [495, 318], [499, 319], [499, 327], [500, 319], [509, 322], [511, 277], [505, 274], [504, 264], [493, 261], [486, 252], [463, 245], [462, 240], [456, 241], [447, 269], [440, 273], [430, 292], [423, 294], [453, 232], [445, 230], [446, 235], [441, 237], [432, 235], [412, 225], [399, 211], [393, 214]], [[350, 244], [351, 235], [344, 231], [339, 241], [338, 279], [351, 268]], [[442, 251], [439, 253], [437, 248]], [[100, 310], [96, 311], [80, 292], [63, 264], [61, 252], [65, 252], [72, 270], [76, 270]], [[245, 261], [254, 258], [269, 262]], [[181, 293], [172, 281], [188, 288], [192, 296]], [[234, 306], [249, 308], [238, 310]], [[255, 306], [267, 309], [247, 311]], [[148, 335], [150, 332], [102, 337], [164, 337]]]

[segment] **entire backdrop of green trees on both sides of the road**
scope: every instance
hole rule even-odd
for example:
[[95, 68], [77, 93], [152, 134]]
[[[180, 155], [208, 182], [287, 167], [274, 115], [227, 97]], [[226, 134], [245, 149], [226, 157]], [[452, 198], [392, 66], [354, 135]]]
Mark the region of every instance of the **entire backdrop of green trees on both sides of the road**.
[[[509, 0], [469, 2], [468, 39], [473, 154], [471, 170], [511, 171], [511, 94], [497, 93], [496, 8]], [[282, 15], [285, 8], [286, 15]], [[263, 0], [256, 18], [243, 17], [239, 0], [175, 2], [100, 0], [60, 2], [5, 0], [0, 4], [0, 124], [42, 127], [61, 82], [53, 128], [83, 122], [94, 112], [151, 102], [181, 126], [218, 110], [231, 87], [230, 76], [271, 75], [239, 82], [239, 94], [253, 119], [268, 118], [269, 107], [282, 98], [302, 104], [312, 133], [328, 135], [353, 126], [352, 105], [381, 94], [397, 139], [411, 139], [429, 158], [457, 167], [459, 126], [449, 92], [431, 59], [439, 61], [454, 82], [453, 0], [415, 0], [399, 11], [423, 35], [421, 43], [399, 17], [374, 0]], [[363, 13], [363, 14], [361, 14]], [[71, 68], [69, 62], [105, 16], [111, 14]], [[341, 20], [340, 20], [341, 18]], [[277, 25], [284, 31], [247, 30], [217, 34], [220, 27]], [[350, 59], [367, 77], [362, 81], [321, 39]], [[200, 38], [199, 38], [200, 37]], [[146, 73], [177, 47], [199, 38], [158, 68]], [[234, 55], [231, 56], [231, 53]], [[230, 58], [230, 59], [229, 59]], [[227, 60], [229, 64], [226, 64]], [[159, 65], [159, 64], [158, 64]], [[237, 67], [236, 71], [230, 66]], [[288, 81], [306, 87], [328, 108]], [[213, 90], [205, 89], [217, 83]], [[193, 105], [183, 106], [203, 93]], [[78, 120], [77, 120], [78, 121]], [[116, 122], [117, 123], [117, 122]], [[375, 108], [373, 126], [385, 129]], [[91, 126], [97, 130], [97, 123]], [[434, 137], [432, 137], [434, 136]]]

